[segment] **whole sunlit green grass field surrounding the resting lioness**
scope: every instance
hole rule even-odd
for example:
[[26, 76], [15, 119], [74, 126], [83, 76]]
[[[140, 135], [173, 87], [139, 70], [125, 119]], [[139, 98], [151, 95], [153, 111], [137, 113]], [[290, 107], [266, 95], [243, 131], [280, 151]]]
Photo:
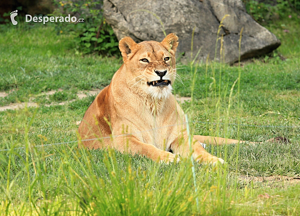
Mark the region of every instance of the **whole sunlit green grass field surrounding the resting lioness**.
[[299, 215], [300, 28], [280, 24], [289, 32], [270, 26], [282, 42], [275, 57], [240, 68], [178, 67], [183, 84], [174, 84], [174, 94], [192, 94], [182, 108], [194, 134], [290, 140], [208, 146], [227, 163], [197, 164], [196, 186], [189, 161], [165, 165], [113, 150], [78, 150], [77, 143], [49, 145], [77, 139], [76, 122], [95, 95], [76, 93], [109, 84], [121, 59], [82, 57], [72, 36], [50, 25], [2, 26], [0, 106], [30, 100], [39, 107], [0, 112], [0, 149], [8, 149], [0, 151], [0, 215]]

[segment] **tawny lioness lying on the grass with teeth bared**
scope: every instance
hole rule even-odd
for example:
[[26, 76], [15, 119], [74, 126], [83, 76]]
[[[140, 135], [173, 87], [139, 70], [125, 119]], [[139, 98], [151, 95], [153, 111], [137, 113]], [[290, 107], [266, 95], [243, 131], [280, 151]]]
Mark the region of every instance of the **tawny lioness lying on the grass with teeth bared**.
[[[154, 161], [172, 162], [175, 155], [190, 153], [182, 109], [172, 95], [178, 37], [170, 33], [161, 42], [119, 41], [123, 64], [86, 110], [79, 125], [83, 146], [110, 146], [121, 152], [141, 154]], [[111, 139], [103, 137], [112, 137]], [[97, 140], [93, 138], [99, 138]], [[223, 163], [201, 143], [237, 143], [207, 136], [193, 136], [196, 161]]]

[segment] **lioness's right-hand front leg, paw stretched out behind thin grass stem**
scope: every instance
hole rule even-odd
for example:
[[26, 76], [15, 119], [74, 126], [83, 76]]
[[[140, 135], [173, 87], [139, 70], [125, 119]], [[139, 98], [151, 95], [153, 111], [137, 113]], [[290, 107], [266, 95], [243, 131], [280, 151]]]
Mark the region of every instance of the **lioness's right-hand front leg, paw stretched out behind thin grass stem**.
[[[217, 158], [206, 152], [205, 149], [201, 146], [201, 144], [194, 138], [192, 139], [191, 147], [192, 157], [197, 162], [211, 164], [216, 164], [217, 162], [220, 162], [221, 164], [224, 163], [223, 159]], [[181, 139], [181, 142], [175, 140], [171, 145], [171, 150], [175, 155], [179, 154], [181, 157], [188, 157], [190, 155], [188, 137], [184, 136], [184, 139]]]

